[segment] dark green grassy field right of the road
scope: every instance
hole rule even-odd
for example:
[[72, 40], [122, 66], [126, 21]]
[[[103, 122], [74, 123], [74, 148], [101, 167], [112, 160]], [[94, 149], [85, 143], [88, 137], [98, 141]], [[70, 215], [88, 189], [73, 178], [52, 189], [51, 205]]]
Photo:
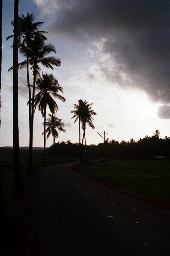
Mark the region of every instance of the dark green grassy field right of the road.
[[113, 160], [83, 166], [83, 171], [143, 195], [170, 201], [170, 161]]

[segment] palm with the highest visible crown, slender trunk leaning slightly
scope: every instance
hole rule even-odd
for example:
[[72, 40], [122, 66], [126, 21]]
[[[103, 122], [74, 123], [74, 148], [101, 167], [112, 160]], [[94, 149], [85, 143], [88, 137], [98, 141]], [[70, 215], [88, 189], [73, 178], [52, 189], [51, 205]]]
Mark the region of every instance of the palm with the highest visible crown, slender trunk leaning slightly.
[[[30, 87], [30, 81], [29, 81], [29, 54], [28, 54], [28, 48], [29, 48], [29, 42], [31, 39], [34, 39], [35, 35], [41, 36], [44, 40], [47, 40], [47, 38], [44, 36], [47, 32], [46, 31], [38, 31], [39, 27], [43, 24], [43, 22], [34, 22], [35, 16], [33, 13], [29, 14], [27, 13], [27, 16], [24, 16], [22, 14], [22, 17], [19, 17], [19, 48], [21, 51], [22, 46], [24, 45], [27, 49], [26, 54], [26, 69], [27, 69], [27, 85], [28, 85], [28, 93], [29, 93], [29, 130], [30, 135], [32, 131], [32, 119], [31, 119], [31, 87]], [[11, 22], [11, 24], [14, 26], [14, 21]], [[8, 36], [7, 40], [10, 38], [13, 38], [14, 35]], [[29, 138], [32, 139], [32, 136]], [[30, 142], [31, 144], [31, 142]], [[30, 151], [30, 154], [32, 152]]]

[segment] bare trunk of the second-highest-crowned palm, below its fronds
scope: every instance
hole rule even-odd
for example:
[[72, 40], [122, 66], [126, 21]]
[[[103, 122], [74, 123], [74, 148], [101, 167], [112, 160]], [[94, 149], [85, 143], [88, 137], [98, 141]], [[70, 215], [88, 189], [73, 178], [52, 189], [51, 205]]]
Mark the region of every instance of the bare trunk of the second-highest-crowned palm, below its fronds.
[[[35, 63], [34, 63], [35, 66]], [[36, 70], [34, 67], [34, 80], [33, 80], [33, 95], [31, 103], [31, 125], [30, 125], [30, 143], [29, 143], [29, 163], [28, 163], [28, 174], [33, 173], [33, 127], [34, 127], [34, 97], [35, 97], [35, 82], [36, 82]]]

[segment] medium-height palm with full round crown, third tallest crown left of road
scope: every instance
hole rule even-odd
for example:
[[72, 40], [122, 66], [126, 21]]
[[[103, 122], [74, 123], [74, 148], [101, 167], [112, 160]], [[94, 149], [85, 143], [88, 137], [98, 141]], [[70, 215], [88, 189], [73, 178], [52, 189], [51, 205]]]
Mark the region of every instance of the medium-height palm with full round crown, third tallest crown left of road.
[[[38, 106], [38, 110], [41, 111], [42, 117], [44, 117], [44, 159], [43, 164], [45, 165], [45, 152], [46, 152], [46, 108], [47, 105], [52, 114], [57, 112], [58, 106], [54, 101], [54, 98], [65, 101], [65, 98], [58, 94], [58, 91], [63, 93], [63, 87], [60, 87], [58, 80], [53, 77], [52, 74], [42, 73], [42, 77], [39, 77], [36, 81], [35, 90], [39, 91], [34, 97], [34, 111]], [[52, 96], [51, 96], [52, 95]], [[33, 101], [33, 98], [32, 98]], [[50, 136], [50, 135], [49, 135]]]

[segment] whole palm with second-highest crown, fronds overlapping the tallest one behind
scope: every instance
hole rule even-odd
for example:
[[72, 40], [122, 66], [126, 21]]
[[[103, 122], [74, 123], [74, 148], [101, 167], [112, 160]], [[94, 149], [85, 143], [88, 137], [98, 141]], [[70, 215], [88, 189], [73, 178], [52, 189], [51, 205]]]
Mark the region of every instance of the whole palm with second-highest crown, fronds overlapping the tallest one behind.
[[[35, 99], [35, 83], [38, 77], [40, 77], [40, 67], [39, 64], [42, 64], [46, 68], [51, 68], [53, 65], [59, 67], [61, 64], [61, 60], [48, 56], [51, 52], [56, 53], [55, 47], [53, 44], [48, 43], [45, 44], [45, 39], [42, 38], [41, 35], [35, 35], [33, 39], [29, 41], [29, 48], [27, 49], [25, 43], [22, 43], [22, 47], [20, 47], [20, 52], [23, 57], [27, 58], [27, 54], [29, 56], [29, 64], [32, 66], [32, 74], [33, 74], [33, 92], [32, 92], [32, 101], [31, 101], [31, 126], [30, 126], [30, 144], [29, 144], [29, 164], [28, 164], [28, 173], [32, 173], [32, 162], [33, 162], [33, 125], [34, 125], [34, 99]], [[18, 67], [24, 68], [27, 66], [27, 59], [18, 64]], [[12, 70], [11, 67], [8, 71]]]

